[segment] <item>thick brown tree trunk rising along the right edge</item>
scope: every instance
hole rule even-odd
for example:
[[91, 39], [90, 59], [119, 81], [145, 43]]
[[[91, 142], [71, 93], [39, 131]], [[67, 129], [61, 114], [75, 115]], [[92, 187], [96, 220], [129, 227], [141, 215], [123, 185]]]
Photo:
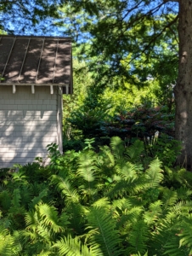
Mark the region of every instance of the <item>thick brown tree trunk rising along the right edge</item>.
[[178, 164], [192, 171], [192, 0], [179, 0], [179, 65], [176, 100], [176, 139], [182, 143]]

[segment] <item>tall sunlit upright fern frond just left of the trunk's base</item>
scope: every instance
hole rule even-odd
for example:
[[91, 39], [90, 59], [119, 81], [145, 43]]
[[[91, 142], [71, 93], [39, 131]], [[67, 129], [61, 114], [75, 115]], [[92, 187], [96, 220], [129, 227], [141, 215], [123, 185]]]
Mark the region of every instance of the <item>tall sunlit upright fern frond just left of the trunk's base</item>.
[[155, 188], [161, 183], [163, 179], [161, 172], [163, 172], [161, 170], [161, 161], [156, 158], [150, 163], [150, 168], [145, 173], [148, 188]]

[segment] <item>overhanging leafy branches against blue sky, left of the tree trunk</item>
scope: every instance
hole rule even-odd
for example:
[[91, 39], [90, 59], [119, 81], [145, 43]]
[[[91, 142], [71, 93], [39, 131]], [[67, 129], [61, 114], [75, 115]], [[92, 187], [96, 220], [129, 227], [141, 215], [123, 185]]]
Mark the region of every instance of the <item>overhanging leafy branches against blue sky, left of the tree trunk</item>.
[[170, 102], [178, 72], [176, 4], [71, 0], [59, 9], [57, 25], [74, 38], [96, 84], [142, 87], [153, 80], [155, 95]]

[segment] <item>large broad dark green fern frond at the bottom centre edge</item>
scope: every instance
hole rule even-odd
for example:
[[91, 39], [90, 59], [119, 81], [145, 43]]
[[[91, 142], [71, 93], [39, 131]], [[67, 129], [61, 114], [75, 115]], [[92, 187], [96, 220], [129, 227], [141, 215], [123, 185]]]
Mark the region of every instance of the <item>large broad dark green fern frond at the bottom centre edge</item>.
[[121, 240], [115, 227], [116, 221], [103, 207], [91, 207], [87, 227], [89, 233], [93, 234], [90, 238], [90, 245], [99, 245], [104, 256], [121, 255], [119, 247]]

